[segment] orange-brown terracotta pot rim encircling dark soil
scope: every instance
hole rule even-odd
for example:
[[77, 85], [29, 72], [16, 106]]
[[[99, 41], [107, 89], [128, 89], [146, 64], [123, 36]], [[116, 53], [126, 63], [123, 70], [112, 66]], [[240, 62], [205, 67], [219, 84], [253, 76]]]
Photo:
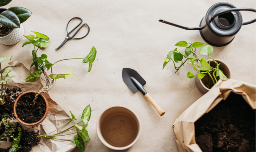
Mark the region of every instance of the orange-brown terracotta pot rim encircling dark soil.
[[27, 91], [27, 92], [24, 92], [24, 93], [22, 93], [21, 95], [19, 95], [18, 98], [17, 98], [17, 99], [15, 100], [15, 102], [14, 102], [13, 112], [14, 112], [15, 117], [17, 118], [17, 120], [18, 120], [20, 123], [22, 123], [22, 124], [24, 124], [24, 125], [37, 125], [37, 124], [41, 123], [41, 122], [46, 118], [46, 116], [47, 116], [47, 114], [48, 114], [48, 111], [49, 111], [49, 105], [48, 105], [48, 102], [47, 102], [47, 100], [45, 99], [45, 97], [44, 97], [43, 95], [39, 94], [41, 97], [43, 97], [43, 99], [44, 99], [44, 101], [45, 101], [45, 104], [46, 104], [46, 111], [45, 111], [45, 114], [44, 114], [43, 118], [41, 118], [38, 122], [35, 122], [35, 123], [25, 123], [25, 122], [21, 121], [21, 120], [18, 118], [18, 115], [17, 115], [17, 112], [16, 112], [16, 104], [17, 104], [17, 102], [19, 101], [20, 97], [23, 96], [24, 94], [27, 94], [27, 93], [38, 93], [38, 92], [36, 92], [36, 91]]

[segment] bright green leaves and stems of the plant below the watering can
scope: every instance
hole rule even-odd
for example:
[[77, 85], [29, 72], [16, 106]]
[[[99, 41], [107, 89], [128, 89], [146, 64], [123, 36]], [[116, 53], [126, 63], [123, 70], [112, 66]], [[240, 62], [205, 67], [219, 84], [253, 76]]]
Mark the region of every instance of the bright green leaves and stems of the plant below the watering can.
[[[187, 64], [192, 64], [193, 69], [199, 71], [198, 73], [193, 73], [189, 71], [187, 73], [187, 77], [190, 79], [196, 76], [198, 77], [198, 79], [203, 79], [205, 75], [208, 75], [209, 80], [211, 80], [213, 84], [217, 82], [217, 79], [226, 79], [227, 77], [224, 75], [223, 71], [219, 69], [220, 63], [210, 57], [211, 53], [213, 52], [213, 47], [210, 45], [204, 45], [205, 44], [201, 42], [187, 43], [186, 41], [180, 41], [176, 43], [175, 46], [186, 47], [184, 50], [185, 54], [180, 53], [177, 48], [175, 48], [173, 51], [170, 51], [164, 60], [163, 69], [167, 65], [167, 63], [172, 60], [174, 68], [176, 72], [178, 72], [180, 67], [183, 66], [188, 60], [189, 62]], [[199, 48], [201, 46], [203, 47], [199, 50], [199, 53], [201, 55], [210, 57], [212, 59], [210, 62], [213, 62], [213, 64], [207, 63], [205, 57], [198, 57], [196, 53], [196, 48]], [[180, 63], [180, 65], [176, 66], [175, 63]]]

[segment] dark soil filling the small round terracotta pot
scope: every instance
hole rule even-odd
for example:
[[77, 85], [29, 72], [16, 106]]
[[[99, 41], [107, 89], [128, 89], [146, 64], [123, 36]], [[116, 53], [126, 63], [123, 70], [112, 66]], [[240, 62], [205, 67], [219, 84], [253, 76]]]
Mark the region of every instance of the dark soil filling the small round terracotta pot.
[[18, 118], [25, 123], [36, 123], [43, 118], [46, 111], [46, 104], [40, 95], [38, 95], [35, 104], [36, 93], [27, 93], [20, 97], [16, 105]]

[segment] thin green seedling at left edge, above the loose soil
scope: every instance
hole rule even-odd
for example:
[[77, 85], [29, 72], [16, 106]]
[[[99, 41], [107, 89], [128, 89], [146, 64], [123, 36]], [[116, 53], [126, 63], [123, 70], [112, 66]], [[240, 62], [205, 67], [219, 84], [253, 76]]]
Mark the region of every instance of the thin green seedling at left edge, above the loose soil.
[[[0, 104], [4, 104], [4, 101], [5, 101], [5, 90], [6, 90], [6, 85], [7, 85], [7, 80], [12, 78], [12, 77], [15, 77], [15, 76], [7, 76], [9, 72], [11, 72], [13, 70], [12, 67], [7, 67], [5, 68], [5, 71], [3, 72], [2, 71], [2, 66], [1, 66], [1, 63], [3, 61], [6, 61], [6, 60], [11, 60], [12, 59], [12, 56], [8, 56], [8, 57], [0, 57], [0, 74], [1, 74], [1, 94], [0, 94]], [[5, 83], [5, 87], [4, 87], [4, 83]]]

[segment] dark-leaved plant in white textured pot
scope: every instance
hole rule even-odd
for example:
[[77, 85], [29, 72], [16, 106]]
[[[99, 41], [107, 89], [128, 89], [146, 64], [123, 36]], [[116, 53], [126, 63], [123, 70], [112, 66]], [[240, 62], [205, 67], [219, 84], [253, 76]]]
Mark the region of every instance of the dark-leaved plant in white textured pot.
[[[0, 6], [5, 6], [12, 0], [0, 0]], [[13, 45], [18, 43], [24, 28], [21, 23], [30, 17], [32, 12], [23, 7], [0, 8], [0, 43]]]

